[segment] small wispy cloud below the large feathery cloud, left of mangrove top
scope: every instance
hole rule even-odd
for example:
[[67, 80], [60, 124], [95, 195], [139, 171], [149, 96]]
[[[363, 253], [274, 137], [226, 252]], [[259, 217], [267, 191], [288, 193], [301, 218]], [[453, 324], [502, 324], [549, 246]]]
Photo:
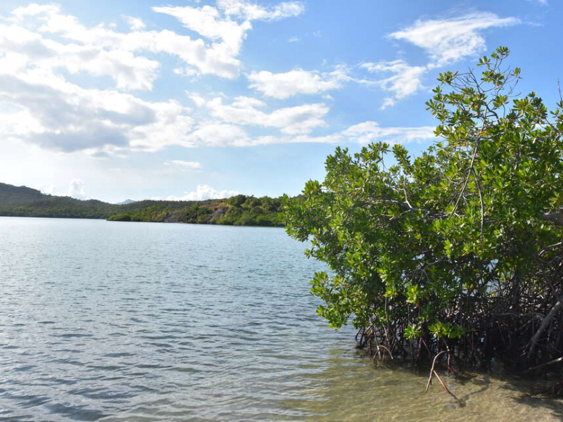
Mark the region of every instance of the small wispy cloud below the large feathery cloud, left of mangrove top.
[[[410, 66], [404, 60], [390, 62], [364, 63], [360, 66], [372, 73], [393, 73], [393, 76], [379, 79], [372, 83], [386, 91], [393, 91], [395, 98], [405, 98], [422, 88], [421, 77], [426, 72], [425, 66]], [[386, 102], [387, 106], [393, 105]]]

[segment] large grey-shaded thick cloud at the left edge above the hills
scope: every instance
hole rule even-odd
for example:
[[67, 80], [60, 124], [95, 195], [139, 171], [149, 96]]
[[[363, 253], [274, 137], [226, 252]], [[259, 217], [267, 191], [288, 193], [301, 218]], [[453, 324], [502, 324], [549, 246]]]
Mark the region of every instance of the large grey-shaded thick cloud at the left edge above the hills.
[[191, 146], [194, 120], [176, 101], [151, 103], [118, 91], [83, 89], [61, 77], [27, 70], [3, 72], [0, 60], [0, 132], [57, 151], [112, 153]]

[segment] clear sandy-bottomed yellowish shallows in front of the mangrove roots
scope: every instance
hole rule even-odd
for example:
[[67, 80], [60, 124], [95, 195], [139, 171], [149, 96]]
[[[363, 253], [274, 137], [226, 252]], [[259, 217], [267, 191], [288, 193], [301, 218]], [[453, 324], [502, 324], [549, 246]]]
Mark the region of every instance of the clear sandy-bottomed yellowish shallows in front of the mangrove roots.
[[438, 381], [424, 392], [428, 369], [387, 362], [372, 365], [355, 350], [336, 349], [326, 369], [304, 377], [298, 398], [283, 407], [301, 409], [303, 421], [560, 421], [563, 400], [538, 397], [543, 385], [495, 369], [461, 376], [439, 373], [460, 399], [455, 402]]

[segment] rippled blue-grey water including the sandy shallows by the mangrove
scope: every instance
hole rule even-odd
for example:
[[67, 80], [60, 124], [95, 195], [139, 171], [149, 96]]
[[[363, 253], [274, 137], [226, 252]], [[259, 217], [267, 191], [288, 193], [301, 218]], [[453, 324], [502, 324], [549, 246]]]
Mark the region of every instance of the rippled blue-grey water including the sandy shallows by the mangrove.
[[0, 218], [1, 421], [559, 421], [517, 381], [373, 364], [281, 229]]

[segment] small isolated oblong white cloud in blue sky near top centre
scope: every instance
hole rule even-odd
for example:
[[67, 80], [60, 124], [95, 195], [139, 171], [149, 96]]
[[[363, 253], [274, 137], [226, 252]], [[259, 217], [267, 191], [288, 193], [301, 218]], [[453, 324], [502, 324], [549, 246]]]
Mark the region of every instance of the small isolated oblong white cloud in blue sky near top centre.
[[265, 96], [286, 99], [298, 94], [321, 94], [340, 89], [343, 82], [350, 80], [346, 68], [339, 67], [333, 72], [294, 69], [285, 73], [252, 72], [246, 76], [249, 87]]

